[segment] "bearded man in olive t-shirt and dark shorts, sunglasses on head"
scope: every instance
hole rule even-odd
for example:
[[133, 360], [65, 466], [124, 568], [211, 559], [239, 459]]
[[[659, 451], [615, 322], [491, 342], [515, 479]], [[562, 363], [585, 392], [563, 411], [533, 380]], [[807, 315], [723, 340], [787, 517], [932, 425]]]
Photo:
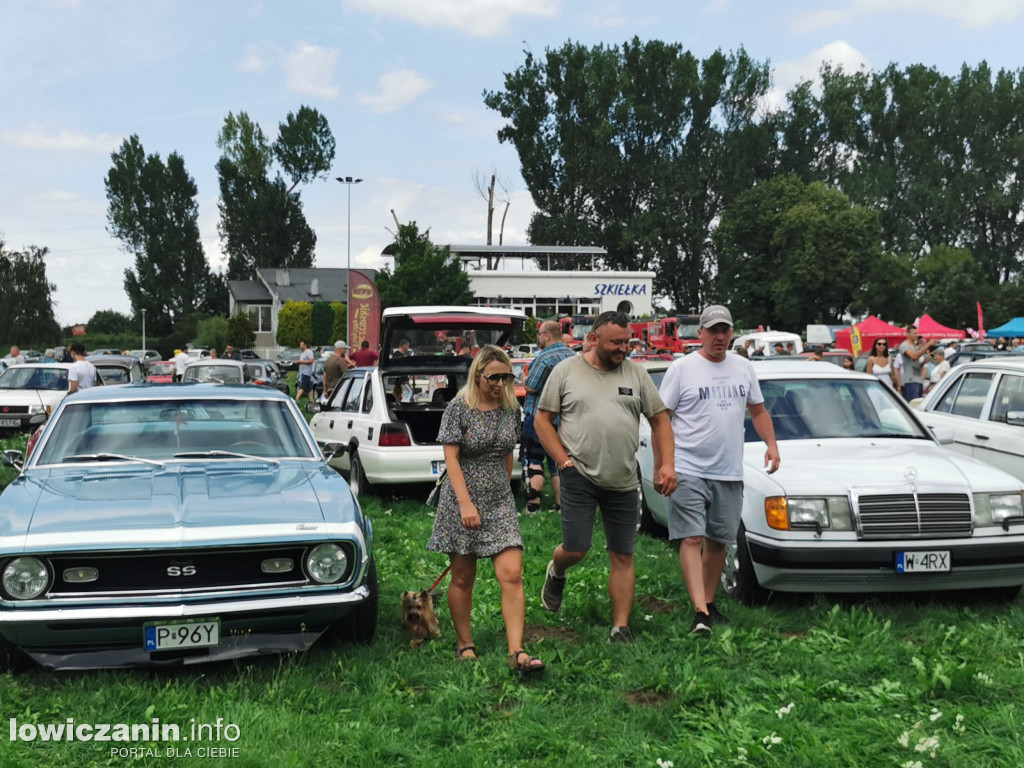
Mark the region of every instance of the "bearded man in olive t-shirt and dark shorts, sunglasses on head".
[[565, 571], [587, 555], [600, 507], [611, 561], [610, 639], [616, 642], [633, 639], [629, 617], [636, 587], [633, 545], [641, 415], [651, 426], [654, 487], [666, 496], [676, 488], [669, 414], [646, 370], [626, 359], [630, 336], [628, 315], [597, 315], [588, 334], [591, 348], [555, 366], [535, 420], [544, 450], [558, 466], [562, 486], [562, 542], [548, 563], [541, 602], [548, 610], [561, 607]]

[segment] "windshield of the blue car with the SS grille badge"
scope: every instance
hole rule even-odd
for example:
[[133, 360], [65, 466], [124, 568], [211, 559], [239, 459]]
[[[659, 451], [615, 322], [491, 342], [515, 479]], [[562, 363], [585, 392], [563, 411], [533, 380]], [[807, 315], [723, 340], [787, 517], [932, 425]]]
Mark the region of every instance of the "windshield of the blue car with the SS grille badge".
[[114, 454], [167, 461], [225, 451], [267, 459], [313, 456], [289, 403], [258, 399], [145, 400], [69, 404], [38, 464]]

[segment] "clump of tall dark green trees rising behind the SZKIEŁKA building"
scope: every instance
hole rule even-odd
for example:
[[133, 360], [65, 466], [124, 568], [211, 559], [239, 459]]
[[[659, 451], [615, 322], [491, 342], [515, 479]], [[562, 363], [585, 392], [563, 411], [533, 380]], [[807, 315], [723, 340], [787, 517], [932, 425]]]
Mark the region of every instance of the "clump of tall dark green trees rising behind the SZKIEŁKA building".
[[484, 103], [537, 204], [531, 242], [602, 246], [608, 267], [653, 270], [656, 293], [691, 306], [724, 205], [771, 171], [773, 127], [757, 120], [769, 86], [742, 49], [698, 59], [634, 38], [527, 51]]

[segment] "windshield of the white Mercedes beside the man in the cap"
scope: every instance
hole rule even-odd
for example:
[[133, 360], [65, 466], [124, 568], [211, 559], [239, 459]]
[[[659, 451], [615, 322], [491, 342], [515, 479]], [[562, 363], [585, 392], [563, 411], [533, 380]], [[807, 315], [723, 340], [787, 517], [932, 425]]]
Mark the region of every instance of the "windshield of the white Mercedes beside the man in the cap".
[[[930, 439], [889, 387], [878, 381], [769, 380], [761, 382], [765, 408], [779, 440], [829, 437]], [[745, 440], [758, 442], [746, 415]]]

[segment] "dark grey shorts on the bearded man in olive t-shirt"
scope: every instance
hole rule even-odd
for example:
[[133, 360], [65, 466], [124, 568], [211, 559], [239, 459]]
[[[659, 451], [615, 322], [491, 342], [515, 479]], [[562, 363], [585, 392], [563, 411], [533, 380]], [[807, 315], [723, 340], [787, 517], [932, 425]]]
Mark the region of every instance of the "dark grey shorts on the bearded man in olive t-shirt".
[[598, 487], [574, 467], [559, 470], [562, 481], [562, 549], [590, 550], [594, 516], [601, 507], [605, 547], [610, 552], [632, 555], [637, 538], [636, 490], [608, 490]]

